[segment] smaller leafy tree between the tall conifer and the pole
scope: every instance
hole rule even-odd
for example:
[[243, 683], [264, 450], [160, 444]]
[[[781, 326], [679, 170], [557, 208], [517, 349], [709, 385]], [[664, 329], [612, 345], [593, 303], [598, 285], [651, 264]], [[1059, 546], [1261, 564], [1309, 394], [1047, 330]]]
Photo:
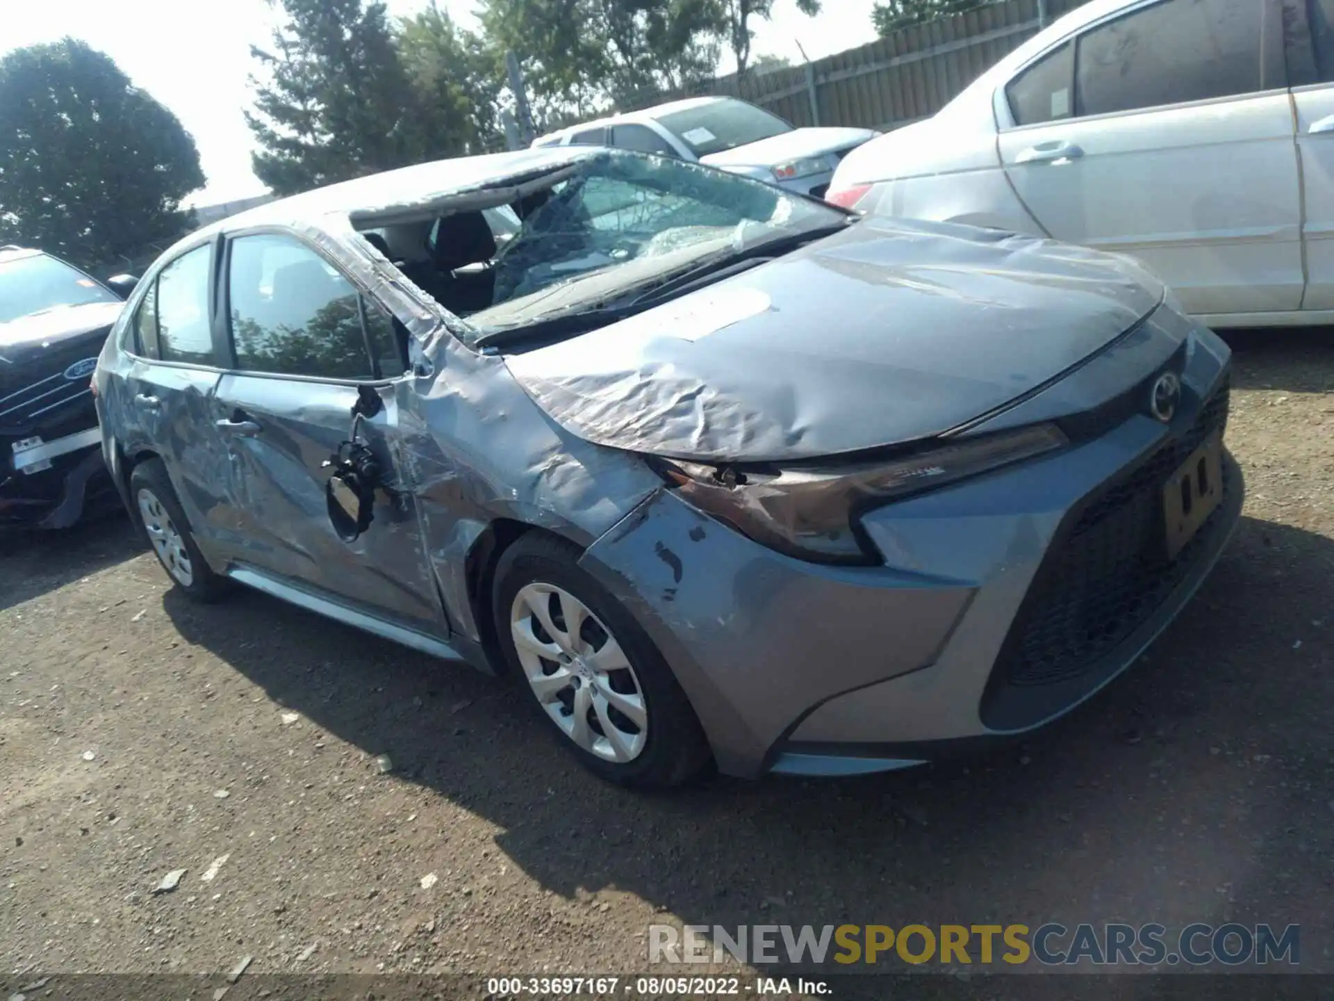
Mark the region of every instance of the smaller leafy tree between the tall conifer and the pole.
[[432, 157], [475, 153], [500, 133], [503, 69], [482, 37], [436, 4], [399, 25], [399, 55], [423, 115], [422, 145]]

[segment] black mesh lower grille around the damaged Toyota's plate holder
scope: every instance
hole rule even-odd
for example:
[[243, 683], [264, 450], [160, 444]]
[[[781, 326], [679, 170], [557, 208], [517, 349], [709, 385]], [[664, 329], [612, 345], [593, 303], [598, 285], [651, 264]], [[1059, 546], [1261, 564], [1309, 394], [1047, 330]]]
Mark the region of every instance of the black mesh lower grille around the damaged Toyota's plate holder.
[[1013, 685], [1075, 677], [1126, 639], [1185, 578], [1205, 551], [1225, 503], [1167, 559], [1162, 495], [1167, 478], [1206, 438], [1227, 424], [1225, 383], [1185, 434], [1165, 443], [1095, 495], [1047, 554], [1002, 653]]

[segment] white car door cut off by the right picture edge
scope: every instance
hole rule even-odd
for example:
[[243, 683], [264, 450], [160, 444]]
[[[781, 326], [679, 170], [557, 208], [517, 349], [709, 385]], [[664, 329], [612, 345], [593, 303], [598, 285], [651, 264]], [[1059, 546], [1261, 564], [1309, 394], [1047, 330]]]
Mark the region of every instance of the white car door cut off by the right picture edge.
[[1334, 0], [1285, 0], [1306, 219], [1302, 308], [1334, 310]]

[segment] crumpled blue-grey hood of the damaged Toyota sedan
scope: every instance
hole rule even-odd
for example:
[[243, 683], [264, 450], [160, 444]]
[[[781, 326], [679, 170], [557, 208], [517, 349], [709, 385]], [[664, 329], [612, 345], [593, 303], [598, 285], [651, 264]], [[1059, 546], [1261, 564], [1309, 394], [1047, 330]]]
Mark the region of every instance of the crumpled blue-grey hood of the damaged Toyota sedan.
[[620, 323], [506, 359], [559, 424], [680, 459], [928, 438], [1022, 396], [1162, 300], [1127, 258], [864, 219]]

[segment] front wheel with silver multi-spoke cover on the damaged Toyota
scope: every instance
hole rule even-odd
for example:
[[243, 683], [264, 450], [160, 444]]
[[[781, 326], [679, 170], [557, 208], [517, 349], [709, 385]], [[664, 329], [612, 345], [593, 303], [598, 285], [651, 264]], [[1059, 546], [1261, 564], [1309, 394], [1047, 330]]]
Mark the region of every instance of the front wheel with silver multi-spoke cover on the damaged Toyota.
[[686, 693], [648, 634], [576, 566], [579, 550], [526, 535], [496, 567], [506, 662], [587, 767], [626, 786], [672, 786], [708, 761]]

